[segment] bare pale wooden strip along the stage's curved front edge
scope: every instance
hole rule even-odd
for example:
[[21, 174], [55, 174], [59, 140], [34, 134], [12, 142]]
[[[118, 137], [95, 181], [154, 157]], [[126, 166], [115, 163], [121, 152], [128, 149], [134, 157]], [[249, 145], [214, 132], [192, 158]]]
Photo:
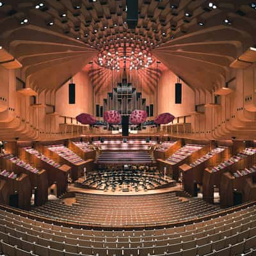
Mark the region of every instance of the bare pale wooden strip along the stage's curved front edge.
[[177, 186], [175, 187], [171, 187], [171, 188], [161, 188], [161, 189], [150, 189], [148, 191], [129, 191], [129, 192], [122, 192], [122, 191], [108, 191], [108, 192], [104, 192], [102, 190], [99, 189], [84, 189], [84, 188], [76, 188], [74, 186], [74, 184], [71, 184], [68, 187], [68, 192], [80, 192], [80, 193], [89, 193], [89, 194], [96, 194], [96, 195], [153, 195], [153, 194], [158, 194], [158, 193], [168, 193], [168, 192], [174, 192], [174, 191], [182, 191], [182, 187], [180, 186], [180, 184], [177, 184]]

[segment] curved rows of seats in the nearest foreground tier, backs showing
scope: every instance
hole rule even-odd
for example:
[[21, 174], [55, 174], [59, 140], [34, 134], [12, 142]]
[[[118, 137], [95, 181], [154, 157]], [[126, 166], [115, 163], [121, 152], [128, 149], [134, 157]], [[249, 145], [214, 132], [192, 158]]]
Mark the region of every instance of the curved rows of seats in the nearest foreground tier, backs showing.
[[204, 221], [164, 228], [73, 228], [65, 222], [54, 225], [51, 220], [36, 220], [30, 212], [13, 213], [3, 206], [0, 216], [0, 252], [7, 256], [256, 255], [253, 204]]

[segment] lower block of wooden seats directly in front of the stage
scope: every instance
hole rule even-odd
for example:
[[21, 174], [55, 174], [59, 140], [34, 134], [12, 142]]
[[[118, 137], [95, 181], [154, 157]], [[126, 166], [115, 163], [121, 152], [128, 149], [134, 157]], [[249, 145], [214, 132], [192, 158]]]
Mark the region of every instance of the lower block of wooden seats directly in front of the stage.
[[220, 208], [198, 198], [179, 198], [175, 193], [122, 197], [77, 193], [76, 204], [54, 200], [32, 211], [54, 219], [122, 227], [170, 223], [211, 214]]

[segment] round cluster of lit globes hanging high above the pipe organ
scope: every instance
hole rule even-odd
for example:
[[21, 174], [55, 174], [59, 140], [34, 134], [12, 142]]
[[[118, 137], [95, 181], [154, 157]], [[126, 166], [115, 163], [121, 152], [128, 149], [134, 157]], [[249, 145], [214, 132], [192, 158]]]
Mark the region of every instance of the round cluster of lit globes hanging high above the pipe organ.
[[98, 56], [97, 64], [100, 67], [119, 71], [121, 68], [138, 70], [147, 68], [154, 63], [154, 58], [145, 45], [120, 43], [103, 47]]

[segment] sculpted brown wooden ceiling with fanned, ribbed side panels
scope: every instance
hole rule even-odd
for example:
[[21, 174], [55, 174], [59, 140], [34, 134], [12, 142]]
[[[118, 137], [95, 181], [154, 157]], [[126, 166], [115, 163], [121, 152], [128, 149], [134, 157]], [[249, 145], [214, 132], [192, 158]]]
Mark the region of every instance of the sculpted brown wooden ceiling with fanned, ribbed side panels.
[[[58, 89], [104, 45], [125, 42], [148, 47], [191, 87], [211, 91], [256, 42], [253, 1], [139, 0], [133, 30], [126, 24], [125, 0], [0, 1], [0, 45], [38, 90]], [[151, 70], [156, 73], [152, 67], [141, 72], [150, 76]]]

